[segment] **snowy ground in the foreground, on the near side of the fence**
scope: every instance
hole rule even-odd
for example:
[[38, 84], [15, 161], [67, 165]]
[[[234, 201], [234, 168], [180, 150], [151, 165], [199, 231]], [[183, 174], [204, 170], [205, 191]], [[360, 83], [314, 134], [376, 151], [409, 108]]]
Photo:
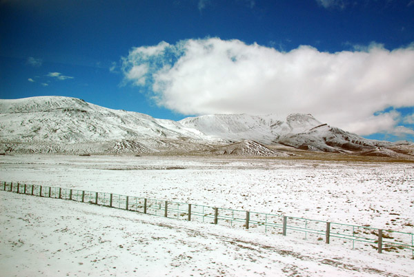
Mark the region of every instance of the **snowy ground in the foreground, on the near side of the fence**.
[[0, 192], [3, 276], [411, 276], [376, 252]]

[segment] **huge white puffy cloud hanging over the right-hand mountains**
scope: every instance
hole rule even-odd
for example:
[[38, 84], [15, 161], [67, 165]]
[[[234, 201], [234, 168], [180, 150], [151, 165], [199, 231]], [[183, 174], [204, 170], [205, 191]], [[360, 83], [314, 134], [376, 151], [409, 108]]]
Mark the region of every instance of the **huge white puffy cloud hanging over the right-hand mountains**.
[[188, 115], [311, 113], [357, 134], [396, 132], [387, 107], [414, 106], [414, 45], [386, 50], [290, 52], [218, 38], [132, 48], [124, 80], [159, 106]]

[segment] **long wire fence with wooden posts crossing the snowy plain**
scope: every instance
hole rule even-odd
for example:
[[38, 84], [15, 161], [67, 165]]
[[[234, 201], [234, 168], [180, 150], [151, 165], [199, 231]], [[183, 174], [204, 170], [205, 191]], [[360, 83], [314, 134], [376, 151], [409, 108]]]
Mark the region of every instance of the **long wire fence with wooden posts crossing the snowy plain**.
[[262, 229], [266, 233], [282, 234], [283, 236], [302, 234], [306, 240], [322, 241], [324, 243], [343, 245], [344, 243], [351, 242], [353, 249], [356, 248], [355, 243], [359, 243], [359, 247], [362, 243], [362, 247], [371, 245], [372, 248], [377, 249], [378, 253], [383, 251], [400, 252], [408, 249], [408, 251], [411, 250], [411, 256], [414, 258], [414, 234], [377, 229], [369, 226], [331, 223], [322, 220], [62, 187], [2, 182], [0, 190], [92, 203], [155, 216], [176, 218], [178, 220], [191, 220], [245, 229]]

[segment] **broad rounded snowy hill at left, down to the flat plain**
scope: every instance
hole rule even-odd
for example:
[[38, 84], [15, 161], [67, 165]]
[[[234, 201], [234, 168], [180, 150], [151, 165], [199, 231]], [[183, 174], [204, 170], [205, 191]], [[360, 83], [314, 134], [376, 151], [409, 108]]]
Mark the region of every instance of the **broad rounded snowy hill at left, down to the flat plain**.
[[60, 96], [1, 100], [0, 130], [6, 152], [150, 153], [170, 141], [209, 141], [175, 121]]

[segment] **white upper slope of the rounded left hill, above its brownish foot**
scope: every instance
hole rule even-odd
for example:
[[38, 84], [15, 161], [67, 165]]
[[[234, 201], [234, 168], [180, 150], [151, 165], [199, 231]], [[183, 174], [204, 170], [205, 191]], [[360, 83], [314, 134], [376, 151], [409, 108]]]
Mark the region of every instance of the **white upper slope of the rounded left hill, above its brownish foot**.
[[207, 139], [197, 130], [188, 130], [175, 121], [110, 110], [68, 97], [2, 100], [0, 114], [1, 139], [22, 142], [76, 143], [182, 136]]

